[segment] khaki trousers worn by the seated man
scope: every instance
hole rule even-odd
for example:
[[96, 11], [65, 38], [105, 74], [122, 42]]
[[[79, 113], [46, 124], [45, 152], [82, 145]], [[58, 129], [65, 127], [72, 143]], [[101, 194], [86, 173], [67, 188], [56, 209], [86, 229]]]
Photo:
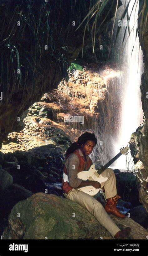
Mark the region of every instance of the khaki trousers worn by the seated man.
[[[106, 198], [116, 196], [116, 177], [111, 168], [107, 168], [103, 173], [103, 177], [108, 177], [106, 182], [101, 183], [101, 188], [104, 186]], [[100, 224], [105, 227], [108, 232], [114, 235], [120, 230], [119, 227], [109, 217], [104, 207], [93, 196], [90, 196], [82, 191], [73, 188], [69, 193], [64, 194], [67, 199], [70, 199], [82, 207], [86, 208]]]

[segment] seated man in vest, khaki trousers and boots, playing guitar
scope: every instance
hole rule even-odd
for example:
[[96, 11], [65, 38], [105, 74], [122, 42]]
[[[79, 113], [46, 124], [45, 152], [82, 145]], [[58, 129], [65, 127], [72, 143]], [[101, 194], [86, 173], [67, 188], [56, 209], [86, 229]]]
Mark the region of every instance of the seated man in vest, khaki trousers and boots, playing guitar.
[[[83, 133], [77, 142], [74, 142], [67, 150], [65, 156], [64, 173], [62, 180], [62, 190], [64, 196], [82, 207], [86, 208], [93, 214], [100, 224], [105, 227], [111, 235], [116, 239], [125, 239], [131, 232], [131, 228], [127, 227], [120, 230], [119, 227], [112, 221], [107, 213], [112, 213], [119, 218], [125, 218], [125, 215], [120, 213], [116, 208], [118, 199], [116, 191], [116, 177], [111, 168], [107, 168], [103, 173], [103, 177], [107, 177], [106, 182], [99, 183], [91, 180], [78, 179], [77, 173], [87, 170], [92, 165], [92, 160], [89, 157], [92, 150], [96, 146], [97, 139], [94, 133]], [[95, 188], [103, 188], [106, 195], [105, 209], [99, 201], [93, 196], [90, 196], [78, 188], [85, 186], [94, 186]]]

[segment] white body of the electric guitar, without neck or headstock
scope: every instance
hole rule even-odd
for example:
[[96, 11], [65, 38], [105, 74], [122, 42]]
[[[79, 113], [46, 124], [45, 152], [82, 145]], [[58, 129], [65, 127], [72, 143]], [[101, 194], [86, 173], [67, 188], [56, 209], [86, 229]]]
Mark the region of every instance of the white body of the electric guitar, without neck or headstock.
[[[81, 171], [78, 173], [78, 178], [81, 180], [95, 180], [100, 182], [100, 184], [102, 182], [105, 182], [108, 178], [107, 177], [103, 177], [101, 174], [99, 175], [97, 173], [97, 170], [95, 169], [95, 165], [91, 165], [90, 169], [88, 171]], [[82, 188], [78, 188], [79, 191], [83, 191], [87, 194], [89, 194], [90, 196], [95, 196], [100, 188], [94, 188], [93, 186], [86, 186], [86, 187], [82, 187]]]

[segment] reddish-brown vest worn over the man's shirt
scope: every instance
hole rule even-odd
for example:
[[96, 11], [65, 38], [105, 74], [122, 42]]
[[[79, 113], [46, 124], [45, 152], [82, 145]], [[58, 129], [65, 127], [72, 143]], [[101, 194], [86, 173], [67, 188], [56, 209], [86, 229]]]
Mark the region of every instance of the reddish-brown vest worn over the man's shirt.
[[[78, 158], [79, 158], [78, 172], [84, 171], [84, 168], [85, 168], [85, 159], [84, 159], [83, 156], [81, 156], [81, 155], [79, 154], [79, 150], [76, 149], [76, 150], [75, 150], [73, 153], [71, 153], [71, 154], [76, 154], [76, 155], [78, 156]], [[67, 158], [68, 158], [71, 154], [67, 155], [66, 160], [67, 160]], [[66, 162], [66, 160], [65, 160], [65, 162]], [[87, 161], [86, 168], [88, 169], [91, 165], [92, 165], [92, 160], [89, 159], [89, 160]], [[66, 168], [66, 166], [64, 165], [64, 172], [63, 172], [63, 179], [62, 179], [62, 190], [63, 190], [64, 192], [68, 193], [70, 190], [72, 190], [72, 188], [73, 188], [73, 187], [71, 187], [71, 186], [69, 185], [69, 182], [68, 182], [68, 175], [67, 175], [67, 168]]]

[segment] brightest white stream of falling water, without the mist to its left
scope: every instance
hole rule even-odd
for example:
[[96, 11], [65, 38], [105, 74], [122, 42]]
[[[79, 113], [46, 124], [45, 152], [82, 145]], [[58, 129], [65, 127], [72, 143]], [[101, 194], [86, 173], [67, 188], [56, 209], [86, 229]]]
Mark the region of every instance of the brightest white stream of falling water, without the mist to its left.
[[[121, 15], [127, 5], [126, 0], [122, 0], [123, 5], [118, 8], [117, 17], [116, 17], [116, 29], [119, 24], [119, 20], [121, 19]], [[125, 4], [126, 3], [126, 4]], [[135, 5], [134, 5], [135, 3]], [[134, 6], [134, 8], [133, 8]], [[133, 11], [132, 11], [133, 8]], [[137, 28], [137, 18], [138, 18], [138, 1], [131, 0], [128, 13], [130, 17], [130, 22], [128, 23], [130, 29], [130, 37], [128, 33], [128, 28], [126, 26], [120, 29], [120, 33], [117, 38], [116, 48], [116, 59], [118, 64], [118, 70], [120, 69], [120, 76], [116, 76], [116, 79], [112, 80], [113, 86], [116, 88], [116, 96], [115, 101], [118, 102], [118, 111], [115, 111], [115, 108], [112, 111], [116, 112], [116, 136], [112, 144], [114, 145], [114, 154], [116, 155], [119, 152], [121, 147], [127, 146], [131, 134], [136, 131], [136, 129], [140, 126], [140, 121], [143, 120], [143, 112], [142, 112], [142, 104], [140, 99], [140, 84], [141, 84], [141, 75], [143, 73], [143, 54], [141, 50], [141, 46], [139, 44], [138, 35], [136, 37], [136, 28]], [[124, 18], [124, 24], [126, 25], [127, 16]], [[123, 22], [123, 20], [122, 20]], [[122, 26], [124, 25], [122, 23]], [[134, 25], [135, 24], [135, 25]], [[126, 29], [126, 36], [123, 43], [123, 53], [121, 55], [121, 45], [123, 36]], [[135, 40], [136, 39], [136, 40]], [[127, 42], [126, 42], [127, 40]], [[126, 42], [126, 44], [125, 44]], [[134, 48], [133, 48], [134, 46]], [[133, 49], [133, 51], [132, 51]], [[121, 56], [121, 58], [120, 58]], [[114, 97], [112, 95], [113, 100]], [[130, 152], [130, 150], [129, 150]], [[131, 158], [131, 154], [129, 153], [129, 160]], [[112, 168], [119, 168], [126, 170], [126, 167], [131, 170], [133, 163], [131, 159], [131, 164], [129, 166], [126, 165], [126, 157], [121, 156], [117, 159], [114, 164], [111, 166]]]

